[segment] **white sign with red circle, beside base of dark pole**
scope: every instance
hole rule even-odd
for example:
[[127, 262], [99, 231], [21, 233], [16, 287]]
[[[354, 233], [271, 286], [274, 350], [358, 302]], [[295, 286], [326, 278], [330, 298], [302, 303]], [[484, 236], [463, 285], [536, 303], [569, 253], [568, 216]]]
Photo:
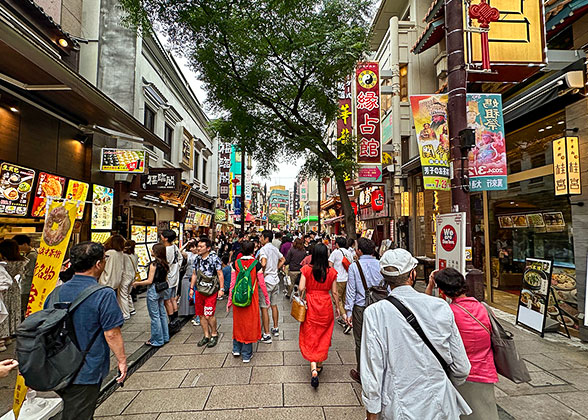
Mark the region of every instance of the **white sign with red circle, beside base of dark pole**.
[[455, 268], [465, 275], [465, 213], [437, 215], [436, 268]]

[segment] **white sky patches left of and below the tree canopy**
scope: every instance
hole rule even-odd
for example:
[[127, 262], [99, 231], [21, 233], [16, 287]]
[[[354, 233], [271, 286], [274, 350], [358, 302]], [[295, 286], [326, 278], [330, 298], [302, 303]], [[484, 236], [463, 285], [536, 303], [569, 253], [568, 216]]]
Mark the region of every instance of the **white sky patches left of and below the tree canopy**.
[[[206, 104], [206, 92], [202, 88], [203, 84], [198, 78], [196, 74], [188, 67], [187, 60], [184, 57], [178, 57], [174, 54], [178, 65], [184, 72], [184, 76], [188, 80], [190, 87], [194, 91], [194, 94], [204, 107], [204, 112], [208, 115], [209, 118], [214, 118], [215, 115], [212, 114], [212, 111], [207, 107]], [[272, 185], [284, 185], [287, 189], [292, 189], [294, 187], [294, 182], [296, 181], [296, 176], [298, 175], [298, 171], [304, 162], [302, 160], [297, 161], [296, 163], [280, 163], [279, 169], [272, 173], [270, 176], [266, 178], [261, 178], [255, 175], [255, 167], [258, 165], [257, 162], [253, 163], [253, 182], [259, 182], [262, 186], [264, 183], [267, 183], [267, 187]]]

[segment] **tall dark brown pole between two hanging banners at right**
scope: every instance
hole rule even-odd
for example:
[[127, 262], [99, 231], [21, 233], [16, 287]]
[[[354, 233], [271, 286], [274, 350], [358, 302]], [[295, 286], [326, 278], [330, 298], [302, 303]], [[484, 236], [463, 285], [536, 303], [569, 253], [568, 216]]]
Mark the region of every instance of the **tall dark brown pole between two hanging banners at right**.
[[466, 213], [466, 246], [471, 246], [467, 149], [462, 147], [460, 137], [460, 132], [467, 128], [467, 72], [464, 58], [463, 0], [445, 0], [445, 37], [449, 96], [447, 118], [449, 120], [449, 138], [451, 139], [450, 159], [453, 167], [451, 201], [453, 211]]

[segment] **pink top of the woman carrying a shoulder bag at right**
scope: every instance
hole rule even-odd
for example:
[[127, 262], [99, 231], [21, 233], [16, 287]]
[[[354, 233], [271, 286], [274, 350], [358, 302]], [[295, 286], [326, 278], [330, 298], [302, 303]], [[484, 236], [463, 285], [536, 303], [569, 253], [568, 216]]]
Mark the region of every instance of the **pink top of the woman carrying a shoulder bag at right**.
[[461, 334], [468, 359], [472, 368], [468, 381], [496, 383], [498, 374], [494, 365], [494, 354], [492, 353], [492, 342], [490, 334], [476, 320], [459, 306], [467, 309], [475, 316], [488, 331], [492, 331], [488, 311], [480, 302], [473, 297], [453, 299], [451, 310], [455, 316], [455, 323]]

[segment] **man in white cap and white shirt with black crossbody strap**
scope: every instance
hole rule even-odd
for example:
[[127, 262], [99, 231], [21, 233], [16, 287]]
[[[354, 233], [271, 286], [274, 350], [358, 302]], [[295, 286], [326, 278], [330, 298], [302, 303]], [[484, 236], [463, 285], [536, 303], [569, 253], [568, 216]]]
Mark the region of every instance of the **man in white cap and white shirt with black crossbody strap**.
[[444, 300], [413, 289], [416, 266], [404, 249], [380, 259], [392, 292], [363, 314], [360, 374], [368, 420], [457, 420], [472, 412], [452, 384], [464, 383], [470, 372], [453, 312]]

